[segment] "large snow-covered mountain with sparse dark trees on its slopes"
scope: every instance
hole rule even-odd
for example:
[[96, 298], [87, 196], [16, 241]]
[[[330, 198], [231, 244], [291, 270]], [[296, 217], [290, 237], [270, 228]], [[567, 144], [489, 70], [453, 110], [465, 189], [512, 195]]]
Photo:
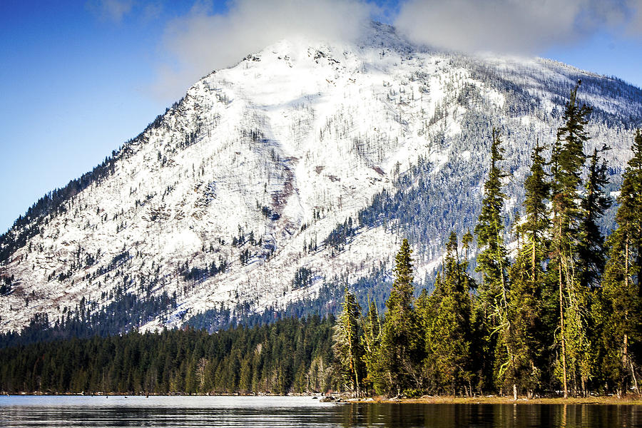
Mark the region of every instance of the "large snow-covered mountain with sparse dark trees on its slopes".
[[423, 282], [450, 230], [474, 226], [491, 128], [506, 147], [510, 219], [530, 150], [554, 141], [578, 78], [618, 184], [639, 88], [540, 58], [432, 51], [382, 24], [366, 33], [280, 41], [210, 73], [42, 198], [0, 239], [0, 331], [44, 313], [125, 307], [136, 317], [117, 315], [152, 328], [285, 308], [324, 286], [372, 286], [403, 237]]

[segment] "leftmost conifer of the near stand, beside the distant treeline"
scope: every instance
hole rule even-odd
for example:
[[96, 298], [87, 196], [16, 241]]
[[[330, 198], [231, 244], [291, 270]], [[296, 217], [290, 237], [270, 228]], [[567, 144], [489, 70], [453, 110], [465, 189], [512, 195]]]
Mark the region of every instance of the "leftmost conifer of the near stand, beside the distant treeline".
[[359, 317], [361, 307], [357, 303], [357, 297], [345, 287], [343, 310], [335, 324], [335, 332], [332, 335], [334, 341], [335, 358], [337, 359], [338, 372], [342, 375], [344, 383], [350, 386], [350, 390], [361, 395], [362, 357], [363, 349], [359, 332]]

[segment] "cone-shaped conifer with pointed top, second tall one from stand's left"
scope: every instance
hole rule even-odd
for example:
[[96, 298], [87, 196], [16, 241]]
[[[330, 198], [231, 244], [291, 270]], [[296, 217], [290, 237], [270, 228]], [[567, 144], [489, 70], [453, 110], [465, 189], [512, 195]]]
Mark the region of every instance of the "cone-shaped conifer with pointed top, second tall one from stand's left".
[[421, 386], [417, 362], [419, 333], [413, 308], [412, 249], [404, 239], [395, 256], [394, 283], [386, 302], [382, 328], [382, 357], [387, 368], [388, 390], [400, 394]]

